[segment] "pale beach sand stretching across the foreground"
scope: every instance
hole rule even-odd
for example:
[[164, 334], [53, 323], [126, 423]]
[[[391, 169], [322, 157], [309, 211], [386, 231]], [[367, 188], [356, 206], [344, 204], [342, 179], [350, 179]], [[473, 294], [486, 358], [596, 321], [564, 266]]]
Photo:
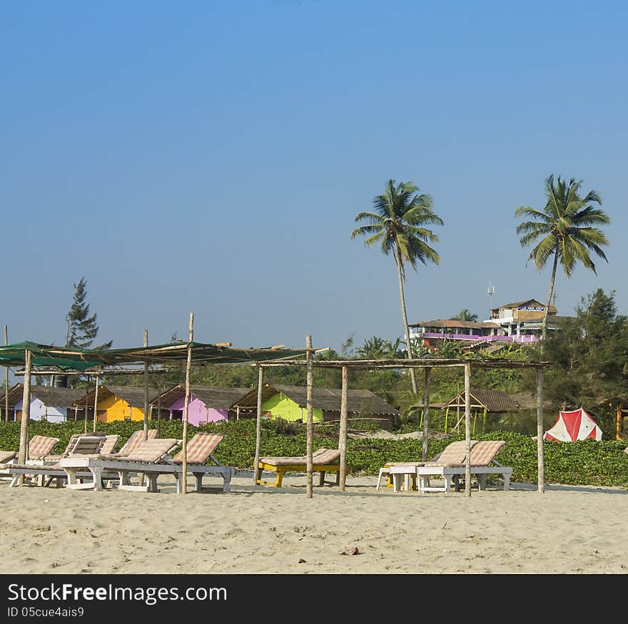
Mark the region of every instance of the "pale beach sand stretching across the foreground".
[[[0, 484], [14, 573], [628, 573], [628, 491], [512, 484], [465, 493], [346, 491], [305, 476], [231, 493], [73, 491]], [[318, 483], [318, 476], [315, 476]], [[216, 481], [216, 485], [218, 481]], [[192, 483], [190, 481], [190, 487]], [[358, 555], [343, 555], [357, 547]], [[299, 563], [304, 560], [303, 563]]]

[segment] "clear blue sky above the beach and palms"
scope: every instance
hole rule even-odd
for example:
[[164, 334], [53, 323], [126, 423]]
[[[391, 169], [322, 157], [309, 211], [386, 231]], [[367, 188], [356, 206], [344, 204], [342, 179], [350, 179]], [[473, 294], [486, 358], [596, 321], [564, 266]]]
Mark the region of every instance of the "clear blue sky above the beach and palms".
[[9, 340], [63, 344], [85, 276], [98, 340], [173, 332], [339, 349], [402, 335], [395, 265], [354, 218], [389, 178], [434, 200], [440, 266], [410, 322], [545, 300], [517, 205], [554, 173], [612, 218], [609, 263], [557, 277], [628, 313], [628, 5], [608, 1], [0, 1]]

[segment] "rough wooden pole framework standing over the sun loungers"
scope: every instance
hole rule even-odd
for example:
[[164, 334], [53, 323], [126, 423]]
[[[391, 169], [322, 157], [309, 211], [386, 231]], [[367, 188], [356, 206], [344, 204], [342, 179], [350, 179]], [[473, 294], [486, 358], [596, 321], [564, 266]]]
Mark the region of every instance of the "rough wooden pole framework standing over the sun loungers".
[[[191, 365], [208, 364], [252, 364], [258, 367], [258, 413], [255, 436], [255, 461], [253, 464], [253, 482], [255, 483], [255, 466], [260, 461], [261, 444], [261, 394], [263, 388], [263, 371], [268, 367], [277, 366], [305, 366], [307, 370], [307, 443], [306, 443], [306, 493], [308, 498], [313, 496], [313, 368], [335, 368], [342, 372], [342, 399], [340, 407], [340, 491], [345, 491], [345, 479], [347, 471], [347, 396], [348, 396], [348, 371], [349, 369], [424, 369], [425, 372], [425, 417], [423, 421], [422, 454], [427, 457], [427, 426], [430, 409], [430, 374], [435, 368], [462, 368], [465, 374], [465, 440], [467, 442], [465, 461], [465, 493], [471, 496], [471, 406], [470, 406], [470, 380], [472, 367], [477, 369], [491, 368], [533, 368], [537, 376], [537, 484], [538, 491], [545, 491], [545, 466], [543, 453], [543, 377], [545, 367], [550, 362], [515, 362], [508, 359], [388, 359], [388, 360], [318, 360], [314, 361], [314, 354], [327, 349], [314, 349], [310, 334], [306, 337], [305, 349], [283, 349], [283, 345], [266, 349], [232, 349], [231, 343], [203, 344], [193, 342], [194, 315], [190, 314], [190, 336], [188, 342], [161, 344], [148, 347], [144, 344], [141, 348], [132, 349], [108, 349], [98, 351], [96, 349], [72, 349], [68, 347], [51, 347], [32, 342], [0, 347], [0, 364], [24, 365], [24, 412], [20, 429], [19, 463], [26, 459], [29, 433], [29, 406], [31, 374], [36, 374], [36, 367], [61, 367], [61, 372], [76, 370], [82, 374], [104, 374], [105, 367], [123, 366], [130, 364], [181, 364], [186, 362], [186, 404], [183, 416], [183, 466], [182, 473], [186, 474], [186, 434], [187, 415], [190, 395], [190, 369]], [[146, 341], [145, 341], [146, 342]], [[305, 359], [297, 359], [303, 357]], [[146, 374], [146, 368], [144, 369]], [[146, 384], [145, 384], [146, 387]], [[148, 399], [146, 399], [148, 403]], [[145, 431], [146, 432], [146, 431]], [[186, 479], [183, 479], [182, 493], [186, 493]]]

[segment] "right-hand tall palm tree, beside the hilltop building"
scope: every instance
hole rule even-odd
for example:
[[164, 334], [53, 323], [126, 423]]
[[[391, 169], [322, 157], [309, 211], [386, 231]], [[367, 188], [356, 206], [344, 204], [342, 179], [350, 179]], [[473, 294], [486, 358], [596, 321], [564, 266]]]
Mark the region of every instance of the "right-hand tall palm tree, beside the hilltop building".
[[543, 314], [543, 339], [547, 336], [547, 313], [550, 311], [558, 263], [564, 268], [565, 275], [571, 277], [577, 262], [581, 262], [597, 275], [591, 259], [592, 251], [608, 262], [601, 245], [608, 245], [609, 242], [604, 232], [596, 226], [608, 225], [610, 218], [603, 210], [591, 205], [602, 205], [602, 200], [594, 190], [589, 190], [584, 198], [579, 196], [581, 185], [582, 180], [571, 178], [567, 183], [560, 176], [554, 184], [552, 174], [545, 180], [545, 208], [535, 210], [530, 206], [519, 206], [515, 210], [515, 218], [525, 216], [532, 219], [517, 225], [516, 230], [517, 234], [523, 235], [520, 239], [522, 247], [535, 245], [529, 260], [541, 270], [550, 256], [554, 255], [550, 292]]

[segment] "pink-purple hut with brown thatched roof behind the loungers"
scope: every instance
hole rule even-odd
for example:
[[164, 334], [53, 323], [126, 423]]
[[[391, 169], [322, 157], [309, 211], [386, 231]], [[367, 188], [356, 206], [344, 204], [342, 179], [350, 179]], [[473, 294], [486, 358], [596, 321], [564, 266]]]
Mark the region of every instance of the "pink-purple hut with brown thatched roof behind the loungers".
[[[198, 426], [208, 422], [217, 422], [236, 418], [236, 409], [231, 409], [250, 388], [221, 388], [213, 386], [191, 386], [188, 405], [188, 423]], [[186, 402], [186, 388], [182, 384], [161, 393], [152, 401], [153, 419], [156, 418], [158, 404], [161, 404], [162, 418], [183, 420], [183, 408]], [[164, 414], [166, 411], [168, 414]]]

